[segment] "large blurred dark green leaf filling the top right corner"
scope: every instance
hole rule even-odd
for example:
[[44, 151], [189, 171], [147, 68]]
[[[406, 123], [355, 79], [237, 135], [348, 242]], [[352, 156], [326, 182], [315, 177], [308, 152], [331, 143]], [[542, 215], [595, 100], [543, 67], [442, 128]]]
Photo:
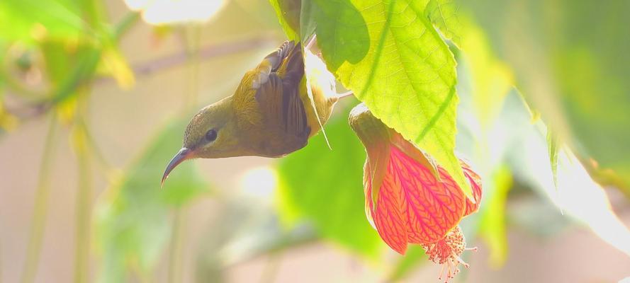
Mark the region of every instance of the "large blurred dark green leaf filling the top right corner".
[[630, 1], [460, 2], [553, 133], [630, 187]]

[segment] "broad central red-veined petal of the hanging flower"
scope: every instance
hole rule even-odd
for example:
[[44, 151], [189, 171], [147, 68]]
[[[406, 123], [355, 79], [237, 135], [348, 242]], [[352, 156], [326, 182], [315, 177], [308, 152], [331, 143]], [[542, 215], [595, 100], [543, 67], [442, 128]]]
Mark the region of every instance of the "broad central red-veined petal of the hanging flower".
[[405, 155], [396, 146], [392, 146], [390, 154], [386, 180], [391, 180], [393, 185], [399, 187], [409, 242], [432, 243], [441, 240], [459, 224], [466, 196], [443, 168], [438, 168], [439, 182], [429, 168]]

